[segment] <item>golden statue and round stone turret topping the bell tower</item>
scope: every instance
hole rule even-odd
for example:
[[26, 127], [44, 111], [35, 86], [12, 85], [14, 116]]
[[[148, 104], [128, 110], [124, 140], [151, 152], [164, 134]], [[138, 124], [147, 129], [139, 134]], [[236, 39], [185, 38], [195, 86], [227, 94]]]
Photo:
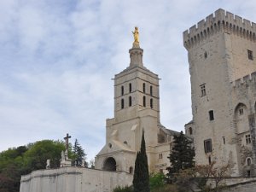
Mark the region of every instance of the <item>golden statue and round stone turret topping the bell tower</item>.
[[134, 42], [132, 48], [129, 50], [130, 53], [130, 67], [143, 67], [143, 49], [140, 48], [139, 32], [137, 26], [133, 33]]

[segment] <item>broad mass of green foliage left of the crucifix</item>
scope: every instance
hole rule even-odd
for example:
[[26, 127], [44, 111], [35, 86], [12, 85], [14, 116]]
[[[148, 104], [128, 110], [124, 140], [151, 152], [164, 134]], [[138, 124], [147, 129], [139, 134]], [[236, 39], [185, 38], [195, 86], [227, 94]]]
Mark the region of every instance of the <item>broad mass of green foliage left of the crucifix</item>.
[[0, 192], [18, 192], [20, 175], [45, 169], [46, 160], [50, 166], [59, 166], [61, 150], [65, 144], [59, 141], [43, 140], [27, 146], [9, 148], [0, 153]]

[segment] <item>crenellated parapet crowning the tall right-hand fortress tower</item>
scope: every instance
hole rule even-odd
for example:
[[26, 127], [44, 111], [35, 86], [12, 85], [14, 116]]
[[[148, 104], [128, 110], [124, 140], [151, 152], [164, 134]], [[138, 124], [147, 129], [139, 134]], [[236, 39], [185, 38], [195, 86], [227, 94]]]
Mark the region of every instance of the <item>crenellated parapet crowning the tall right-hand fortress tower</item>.
[[241, 38], [256, 42], [256, 24], [250, 20], [242, 19], [224, 9], [218, 9], [214, 15], [207, 16], [189, 30], [183, 32], [183, 45], [190, 49], [204, 39], [211, 37], [216, 32], [228, 32]]

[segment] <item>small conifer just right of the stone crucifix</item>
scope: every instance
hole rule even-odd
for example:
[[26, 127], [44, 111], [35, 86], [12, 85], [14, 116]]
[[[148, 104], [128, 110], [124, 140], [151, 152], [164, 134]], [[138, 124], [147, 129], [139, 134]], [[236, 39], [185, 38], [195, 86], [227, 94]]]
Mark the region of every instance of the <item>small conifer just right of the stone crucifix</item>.
[[[87, 162], [85, 161], [86, 154], [84, 153], [84, 149], [79, 144], [78, 139], [75, 140], [73, 145], [73, 164], [74, 166], [85, 166], [88, 167]], [[84, 160], [84, 162], [83, 162]], [[84, 165], [83, 165], [84, 164]]]

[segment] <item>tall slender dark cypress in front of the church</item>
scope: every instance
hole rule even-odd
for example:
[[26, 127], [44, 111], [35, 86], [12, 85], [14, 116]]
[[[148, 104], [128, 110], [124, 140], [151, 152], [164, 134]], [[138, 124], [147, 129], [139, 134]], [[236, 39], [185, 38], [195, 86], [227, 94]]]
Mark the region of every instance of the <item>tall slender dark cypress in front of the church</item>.
[[135, 169], [133, 175], [134, 192], [149, 192], [149, 174], [148, 174], [148, 158], [146, 154], [146, 144], [144, 131], [141, 143], [141, 150], [137, 152], [135, 160]]

